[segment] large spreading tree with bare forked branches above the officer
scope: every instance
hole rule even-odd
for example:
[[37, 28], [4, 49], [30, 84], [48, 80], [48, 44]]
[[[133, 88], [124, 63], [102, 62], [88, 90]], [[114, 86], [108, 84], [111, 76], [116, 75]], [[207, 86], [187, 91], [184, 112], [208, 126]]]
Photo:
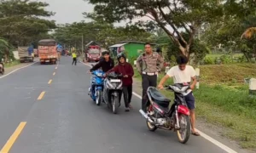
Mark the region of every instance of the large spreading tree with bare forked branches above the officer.
[[[180, 52], [189, 57], [190, 48], [196, 31], [203, 23], [211, 23], [222, 15], [222, 6], [219, 0], [85, 0], [96, 5], [94, 13], [85, 14], [96, 20], [109, 23], [121, 20], [134, 20], [138, 17], [148, 16], [150, 21], [139, 21], [137, 25], [149, 26], [148, 30], [159, 26], [172, 42], [177, 45]], [[172, 28], [172, 31], [168, 29]], [[186, 39], [183, 31], [189, 34]]]

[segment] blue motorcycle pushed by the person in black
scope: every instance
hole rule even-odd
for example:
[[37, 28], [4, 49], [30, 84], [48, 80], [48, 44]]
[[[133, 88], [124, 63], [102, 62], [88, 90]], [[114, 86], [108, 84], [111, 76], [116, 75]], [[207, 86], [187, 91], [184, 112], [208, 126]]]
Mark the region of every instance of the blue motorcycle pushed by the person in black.
[[104, 85], [104, 72], [103, 71], [92, 71], [93, 75], [90, 78], [91, 87], [89, 88], [90, 98], [96, 102], [96, 105], [101, 105], [102, 102], [102, 91]]

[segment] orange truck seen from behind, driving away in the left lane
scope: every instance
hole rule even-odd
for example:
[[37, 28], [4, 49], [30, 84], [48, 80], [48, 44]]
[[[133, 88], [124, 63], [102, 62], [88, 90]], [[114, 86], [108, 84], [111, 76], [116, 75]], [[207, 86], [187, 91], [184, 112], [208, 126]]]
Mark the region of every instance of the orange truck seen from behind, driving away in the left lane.
[[57, 43], [54, 39], [43, 39], [38, 42], [38, 57], [41, 65], [45, 63], [56, 64], [58, 53]]

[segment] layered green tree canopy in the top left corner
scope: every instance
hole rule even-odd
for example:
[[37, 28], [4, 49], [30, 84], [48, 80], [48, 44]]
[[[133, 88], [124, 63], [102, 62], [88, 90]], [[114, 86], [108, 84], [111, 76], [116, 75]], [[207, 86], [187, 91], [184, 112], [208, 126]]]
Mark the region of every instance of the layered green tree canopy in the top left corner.
[[44, 20], [54, 13], [46, 11], [48, 3], [29, 0], [0, 1], [0, 35], [14, 45], [28, 45], [55, 28], [55, 21]]

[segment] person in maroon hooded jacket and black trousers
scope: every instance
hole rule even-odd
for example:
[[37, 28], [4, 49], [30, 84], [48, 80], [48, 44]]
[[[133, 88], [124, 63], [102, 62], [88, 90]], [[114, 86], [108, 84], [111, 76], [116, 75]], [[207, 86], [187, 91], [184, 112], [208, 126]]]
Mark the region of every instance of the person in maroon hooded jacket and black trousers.
[[117, 59], [119, 64], [114, 66], [113, 69], [108, 71], [108, 73], [114, 71], [116, 73], [122, 74], [122, 82], [123, 82], [123, 94], [124, 94], [124, 101], [125, 101], [125, 111], [130, 111], [131, 108], [131, 96], [132, 96], [132, 77], [134, 75], [133, 68], [130, 63], [126, 62], [125, 54], [118, 54]]

